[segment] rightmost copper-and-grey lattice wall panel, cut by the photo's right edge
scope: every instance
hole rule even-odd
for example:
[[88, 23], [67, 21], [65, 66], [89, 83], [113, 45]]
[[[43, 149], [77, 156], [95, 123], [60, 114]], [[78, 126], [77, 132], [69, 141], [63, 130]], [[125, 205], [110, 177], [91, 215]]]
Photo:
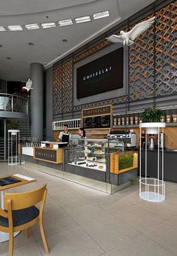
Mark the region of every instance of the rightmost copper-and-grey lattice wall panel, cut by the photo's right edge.
[[157, 11], [155, 44], [156, 96], [177, 93], [177, 1]]

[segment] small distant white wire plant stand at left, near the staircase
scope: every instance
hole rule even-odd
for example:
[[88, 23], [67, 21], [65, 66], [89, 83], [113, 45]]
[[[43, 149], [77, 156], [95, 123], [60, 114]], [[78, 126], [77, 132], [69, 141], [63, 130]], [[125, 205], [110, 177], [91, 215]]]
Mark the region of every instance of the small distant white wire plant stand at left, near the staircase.
[[20, 163], [18, 145], [20, 144], [20, 130], [7, 130], [8, 132], [8, 165]]

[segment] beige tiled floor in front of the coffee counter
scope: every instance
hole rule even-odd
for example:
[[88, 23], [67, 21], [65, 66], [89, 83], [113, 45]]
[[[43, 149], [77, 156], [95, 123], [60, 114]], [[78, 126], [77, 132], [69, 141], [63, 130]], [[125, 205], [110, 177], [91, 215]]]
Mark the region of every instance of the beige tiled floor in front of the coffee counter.
[[[0, 163], [0, 175], [21, 173], [37, 178], [37, 182], [17, 187], [18, 192], [47, 182], [44, 227], [49, 255], [177, 255], [177, 184], [166, 182], [163, 203], [148, 203], [139, 199], [138, 181], [109, 195], [40, 172], [40, 168]], [[7, 245], [0, 244], [1, 256], [7, 255]], [[31, 228], [29, 239], [23, 232], [14, 239], [15, 256], [44, 254], [37, 226]]]

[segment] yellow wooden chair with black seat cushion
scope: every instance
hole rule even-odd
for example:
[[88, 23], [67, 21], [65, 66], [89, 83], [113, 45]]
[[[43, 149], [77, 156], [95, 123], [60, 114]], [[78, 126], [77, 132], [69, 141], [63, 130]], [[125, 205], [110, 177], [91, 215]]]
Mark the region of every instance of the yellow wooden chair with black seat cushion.
[[[46, 253], [49, 248], [43, 230], [43, 208], [46, 200], [46, 184], [36, 190], [25, 193], [6, 193], [5, 210], [0, 208], [0, 230], [9, 233], [9, 256], [13, 255], [13, 232], [26, 230], [29, 236], [29, 227], [39, 222], [40, 233]], [[40, 208], [35, 206], [40, 203]]]

